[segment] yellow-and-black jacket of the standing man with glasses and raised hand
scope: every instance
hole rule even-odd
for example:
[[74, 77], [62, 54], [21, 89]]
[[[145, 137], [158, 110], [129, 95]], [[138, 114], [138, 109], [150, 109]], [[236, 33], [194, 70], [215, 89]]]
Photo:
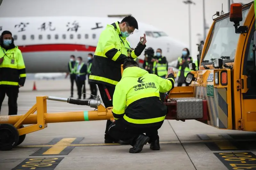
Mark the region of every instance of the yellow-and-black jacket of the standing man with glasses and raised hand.
[[138, 57], [146, 47], [138, 44], [137, 55], [130, 43], [121, 36], [119, 22], [107, 25], [101, 32], [92, 61], [89, 82], [115, 86], [121, 80], [121, 64], [127, 56]]

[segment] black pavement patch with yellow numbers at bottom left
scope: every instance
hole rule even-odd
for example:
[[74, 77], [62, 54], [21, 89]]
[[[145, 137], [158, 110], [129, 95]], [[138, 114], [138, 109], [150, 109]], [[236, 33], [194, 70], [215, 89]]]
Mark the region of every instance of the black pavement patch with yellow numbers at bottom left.
[[54, 170], [63, 158], [27, 158], [12, 170]]

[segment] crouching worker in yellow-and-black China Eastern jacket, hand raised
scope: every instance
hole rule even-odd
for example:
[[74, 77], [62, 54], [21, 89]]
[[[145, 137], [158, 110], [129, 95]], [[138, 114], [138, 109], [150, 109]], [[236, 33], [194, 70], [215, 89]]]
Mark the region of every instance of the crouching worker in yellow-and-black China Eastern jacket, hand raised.
[[130, 153], [142, 151], [147, 143], [150, 149], [159, 150], [157, 130], [167, 114], [159, 92], [172, 90], [174, 73], [170, 68], [168, 77], [164, 79], [139, 68], [131, 59], [126, 59], [123, 68], [122, 78], [113, 95], [112, 113], [116, 121], [108, 128], [109, 135], [132, 145]]

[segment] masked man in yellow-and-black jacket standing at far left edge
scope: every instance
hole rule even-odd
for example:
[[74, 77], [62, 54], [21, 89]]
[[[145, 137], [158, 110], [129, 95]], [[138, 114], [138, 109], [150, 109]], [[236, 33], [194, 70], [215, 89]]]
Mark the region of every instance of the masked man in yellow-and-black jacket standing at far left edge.
[[0, 112], [5, 94], [8, 96], [8, 115], [17, 115], [19, 87], [24, 86], [26, 68], [20, 49], [14, 45], [10, 31], [0, 37]]

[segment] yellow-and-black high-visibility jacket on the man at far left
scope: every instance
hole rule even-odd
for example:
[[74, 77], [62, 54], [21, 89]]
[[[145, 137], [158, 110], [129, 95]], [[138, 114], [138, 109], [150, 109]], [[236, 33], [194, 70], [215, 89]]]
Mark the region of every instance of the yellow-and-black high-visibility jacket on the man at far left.
[[26, 67], [20, 49], [5, 50], [0, 47], [0, 58], [4, 58], [0, 64], [0, 85], [19, 86], [24, 85], [26, 79]]

